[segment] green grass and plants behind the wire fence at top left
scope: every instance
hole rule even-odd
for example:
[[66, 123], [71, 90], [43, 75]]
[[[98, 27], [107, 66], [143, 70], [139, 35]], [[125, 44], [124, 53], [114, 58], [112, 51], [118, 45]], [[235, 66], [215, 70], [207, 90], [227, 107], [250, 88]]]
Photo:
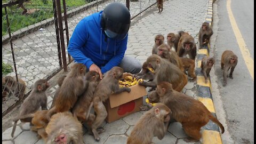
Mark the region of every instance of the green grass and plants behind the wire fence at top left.
[[[2, 3], [7, 3], [10, 0], [3, 0]], [[78, 6], [85, 5], [85, 0], [66, 0], [67, 11]], [[37, 22], [54, 17], [52, 0], [30, 0], [24, 3], [26, 9], [35, 10], [35, 12], [27, 15], [22, 15], [22, 9], [17, 8], [17, 5], [7, 7], [7, 14], [10, 23], [11, 33]], [[62, 1], [61, 1], [61, 5]], [[62, 10], [63, 11], [63, 10]], [[8, 34], [5, 10], [2, 8], [2, 36]]]

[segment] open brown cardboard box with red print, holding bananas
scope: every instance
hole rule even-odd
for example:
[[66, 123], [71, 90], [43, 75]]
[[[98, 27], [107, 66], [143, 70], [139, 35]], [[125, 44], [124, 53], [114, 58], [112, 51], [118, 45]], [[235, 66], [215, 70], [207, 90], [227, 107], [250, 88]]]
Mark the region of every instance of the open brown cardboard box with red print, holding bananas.
[[143, 106], [143, 96], [147, 95], [146, 88], [141, 85], [133, 85], [130, 89], [130, 93], [111, 94], [104, 103], [108, 113], [106, 118], [108, 123], [135, 113], [140, 110], [140, 106]]

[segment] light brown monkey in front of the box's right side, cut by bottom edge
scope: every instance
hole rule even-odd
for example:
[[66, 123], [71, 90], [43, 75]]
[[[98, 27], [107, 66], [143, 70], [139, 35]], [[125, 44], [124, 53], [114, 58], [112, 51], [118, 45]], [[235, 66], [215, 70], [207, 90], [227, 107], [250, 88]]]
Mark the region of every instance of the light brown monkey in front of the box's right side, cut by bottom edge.
[[153, 137], [164, 138], [170, 121], [171, 110], [163, 103], [157, 103], [141, 116], [135, 124], [127, 144], [150, 144]]

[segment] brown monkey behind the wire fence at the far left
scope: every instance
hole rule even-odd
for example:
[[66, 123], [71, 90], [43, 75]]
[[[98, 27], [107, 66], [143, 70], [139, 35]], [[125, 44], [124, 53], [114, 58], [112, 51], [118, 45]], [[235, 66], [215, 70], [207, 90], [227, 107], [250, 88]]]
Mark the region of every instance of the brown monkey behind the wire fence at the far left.
[[15, 81], [13, 77], [5, 76], [4, 78], [2, 78], [2, 84], [2, 89], [3, 92], [5, 91], [5, 95], [8, 94], [9, 97], [13, 95], [14, 97], [18, 97], [19, 99], [23, 98], [26, 90], [26, 83], [22, 79], [18, 78], [17, 83], [17, 81]]

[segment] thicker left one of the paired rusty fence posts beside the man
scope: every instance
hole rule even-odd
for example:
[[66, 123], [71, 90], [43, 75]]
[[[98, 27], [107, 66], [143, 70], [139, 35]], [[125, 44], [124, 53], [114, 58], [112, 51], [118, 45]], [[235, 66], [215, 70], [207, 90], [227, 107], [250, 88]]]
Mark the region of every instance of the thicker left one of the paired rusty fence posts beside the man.
[[56, 0], [56, 7], [57, 7], [57, 16], [58, 16], [58, 24], [59, 24], [62, 63], [63, 63], [64, 71], [67, 72], [68, 66], [67, 66], [67, 59], [66, 59], [66, 49], [65, 49], [64, 34], [63, 34], [60, 0]]

